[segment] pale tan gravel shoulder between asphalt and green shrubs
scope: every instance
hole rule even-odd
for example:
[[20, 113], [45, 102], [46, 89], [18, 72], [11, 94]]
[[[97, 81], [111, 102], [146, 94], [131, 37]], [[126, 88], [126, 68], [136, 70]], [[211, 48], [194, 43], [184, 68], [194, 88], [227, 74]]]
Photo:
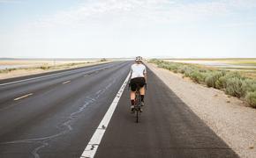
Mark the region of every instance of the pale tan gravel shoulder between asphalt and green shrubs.
[[147, 63], [155, 75], [177, 94], [240, 157], [256, 155], [256, 110], [221, 90], [192, 83], [182, 75]]

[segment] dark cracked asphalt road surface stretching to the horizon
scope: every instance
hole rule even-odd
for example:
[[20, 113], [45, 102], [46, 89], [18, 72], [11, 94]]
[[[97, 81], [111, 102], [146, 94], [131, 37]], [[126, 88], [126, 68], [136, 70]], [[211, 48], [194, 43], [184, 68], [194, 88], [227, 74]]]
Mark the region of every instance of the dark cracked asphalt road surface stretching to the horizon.
[[[0, 157], [80, 157], [131, 64], [1, 81]], [[145, 100], [137, 124], [126, 86], [95, 157], [237, 157], [150, 70]]]

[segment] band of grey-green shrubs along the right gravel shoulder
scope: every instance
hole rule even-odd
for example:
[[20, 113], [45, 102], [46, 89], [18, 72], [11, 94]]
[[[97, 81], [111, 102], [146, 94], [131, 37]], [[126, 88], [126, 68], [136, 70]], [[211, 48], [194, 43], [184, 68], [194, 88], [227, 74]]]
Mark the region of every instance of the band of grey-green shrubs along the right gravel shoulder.
[[245, 100], [256, 108], [256, 79], [243, 75], [238, 71], [206, 68], [197, 64], [177, 63], [153, 59], [159, 68], [169, 69], [174, 73], [183, 74], [192, 79], [194, 83], [205, 84], [223, 90], [227, 95]]

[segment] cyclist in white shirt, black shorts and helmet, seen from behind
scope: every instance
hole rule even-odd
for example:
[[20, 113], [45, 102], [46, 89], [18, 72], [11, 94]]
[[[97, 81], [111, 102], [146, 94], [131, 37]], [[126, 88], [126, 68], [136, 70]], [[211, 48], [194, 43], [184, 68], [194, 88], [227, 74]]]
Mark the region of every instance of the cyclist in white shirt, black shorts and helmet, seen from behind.
[[[145, 65], [142, 62], [142, 57], [137, 56], [135, 59], [135, 63], [132, 64], [131, 67], [131, 112], [134, 112], [134, 104], [135, 104], [135, 91], [137, 85], [139, 85], [139, 93], [141, 98], [141, 105], [144, 105], [144, 96], [145, 96], [145, 85], [147, 83], [147, 70]], [[141, 110], [142, 111], [142, 110]]]

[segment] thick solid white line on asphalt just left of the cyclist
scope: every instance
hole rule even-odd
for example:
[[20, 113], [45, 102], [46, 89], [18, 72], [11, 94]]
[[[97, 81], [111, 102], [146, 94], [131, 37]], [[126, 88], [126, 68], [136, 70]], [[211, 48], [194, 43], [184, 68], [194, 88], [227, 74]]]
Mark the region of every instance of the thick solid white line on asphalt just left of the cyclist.
[[128, 80], [130, 78], [129, 73], [124, 80], [123, 85], [121, 86], [120, 90], [117, 92], [117, 96], [114, 98], [112, 104], [109, 106], [109, 110], [106, 112], [104, 118], [102, 118], [102, 122], [100, 125], [97, 127], [96, 131], [94, 132], [94, 135], [92, 136], [91, 140], [87, 144], [87, 147], [85, 148], [83, 154], [80, 156], [80, 158], [93, 158], [94, 155], [96, 154], [96, 151], [101, 143], [102, 137], [109, 125], [109, 121], [117, 107], [117, 104], [119, 102], [120, 97], [122, 96], [124, 92], [124, 88], [126, 84], [128, 83]]

